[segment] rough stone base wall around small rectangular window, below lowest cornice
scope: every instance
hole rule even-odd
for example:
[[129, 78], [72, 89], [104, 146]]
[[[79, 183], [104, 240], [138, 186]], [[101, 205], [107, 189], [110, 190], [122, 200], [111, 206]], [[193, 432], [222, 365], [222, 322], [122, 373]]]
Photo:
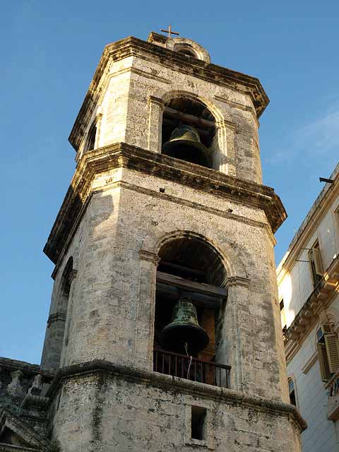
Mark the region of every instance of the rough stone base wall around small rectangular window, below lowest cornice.
[[[300, 451], [288, 413], [157, 375], [147, 384], [105, 373], [69, 379], [51, 411], [54, 438], [67, 452]], [[202, 440], [191, 438], [192, 405], [207, 409]]]

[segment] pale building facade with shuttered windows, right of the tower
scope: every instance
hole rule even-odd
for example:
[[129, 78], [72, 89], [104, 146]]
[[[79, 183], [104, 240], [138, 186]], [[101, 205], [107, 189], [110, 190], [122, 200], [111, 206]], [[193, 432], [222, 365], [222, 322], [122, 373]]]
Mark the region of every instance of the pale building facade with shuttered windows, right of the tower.
[[278, 266], [291, 402], [305, 452], [339, 450], [339, 165]]

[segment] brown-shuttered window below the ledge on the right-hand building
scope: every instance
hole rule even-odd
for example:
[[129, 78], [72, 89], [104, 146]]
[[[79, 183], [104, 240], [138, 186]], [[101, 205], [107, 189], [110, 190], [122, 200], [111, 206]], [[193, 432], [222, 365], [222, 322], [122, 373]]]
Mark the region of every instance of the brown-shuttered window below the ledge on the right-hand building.
[[316, 340], [321, 379], [328, 381], [339, 371], [338, 335], [333, 333], [331, 326], [323, 324], [316, 332]]

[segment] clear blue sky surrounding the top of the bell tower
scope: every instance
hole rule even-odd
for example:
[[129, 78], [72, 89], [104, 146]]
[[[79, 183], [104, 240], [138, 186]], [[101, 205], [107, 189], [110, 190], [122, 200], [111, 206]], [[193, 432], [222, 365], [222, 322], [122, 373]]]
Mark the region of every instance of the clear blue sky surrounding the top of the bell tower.
[[69, 132], [105, 44], [172, 23], [213, 63], [260, 78], [264, 183], [289, 217], [277, 263], [338, 162], [339, 2], [0, 1], [0, 355], [40, 362], [53, 265], [42, 253], [75, 168]]

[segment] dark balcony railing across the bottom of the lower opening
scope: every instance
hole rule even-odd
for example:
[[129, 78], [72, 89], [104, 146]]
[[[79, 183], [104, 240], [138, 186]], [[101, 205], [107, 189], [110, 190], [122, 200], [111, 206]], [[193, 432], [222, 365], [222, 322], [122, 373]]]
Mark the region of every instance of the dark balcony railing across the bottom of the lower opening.
[[154, 350], [153, 370], [160, 374], [206, 383], [220, 388], [230, 388], [231, 366], [202, 361], [187, 355]]

